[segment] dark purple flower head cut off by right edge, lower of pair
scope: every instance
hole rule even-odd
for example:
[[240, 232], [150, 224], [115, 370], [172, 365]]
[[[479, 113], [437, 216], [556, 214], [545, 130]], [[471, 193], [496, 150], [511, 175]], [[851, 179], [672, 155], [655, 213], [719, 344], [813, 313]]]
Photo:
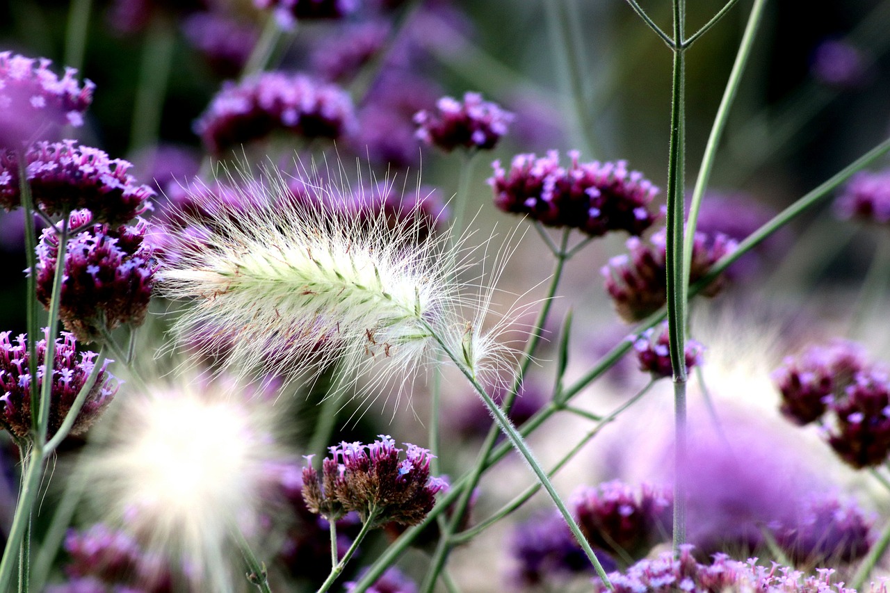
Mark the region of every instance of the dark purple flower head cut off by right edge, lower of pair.
[[886, 461], [890, 455], [890, 380], [884, 371], [854, 375], [829, 408], [834, 417], [829, 445], [840, 459], [856, 469]]

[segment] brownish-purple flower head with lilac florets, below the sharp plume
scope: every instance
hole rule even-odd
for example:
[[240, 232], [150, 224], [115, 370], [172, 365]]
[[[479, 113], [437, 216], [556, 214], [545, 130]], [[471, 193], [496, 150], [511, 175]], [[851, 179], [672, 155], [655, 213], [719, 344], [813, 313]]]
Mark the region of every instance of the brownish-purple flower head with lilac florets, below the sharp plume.
[[409, 443], [405, 446], [405, 459], [388, 435], [379, 435], [379, 440], [368, 445], [330, 447], [321, 477], [312, 465], [303, 469], [306, 506], [331, 521], [355, 511], [372, 526], [420, 523], [446, 483], [430, 477], [430, 451]]

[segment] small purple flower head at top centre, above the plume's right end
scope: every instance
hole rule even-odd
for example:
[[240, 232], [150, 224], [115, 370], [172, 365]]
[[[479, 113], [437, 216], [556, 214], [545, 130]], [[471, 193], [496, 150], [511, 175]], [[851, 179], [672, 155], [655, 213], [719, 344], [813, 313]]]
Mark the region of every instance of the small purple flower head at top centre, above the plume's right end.
[[458, 147], [488, 150], [506, 134], [514, 115], [498, 104], [482, 100], [480, 93], [465, 93], [464, 101], [442, 97], [436, 110], [414, 116], [417, 138], [450, 152]]

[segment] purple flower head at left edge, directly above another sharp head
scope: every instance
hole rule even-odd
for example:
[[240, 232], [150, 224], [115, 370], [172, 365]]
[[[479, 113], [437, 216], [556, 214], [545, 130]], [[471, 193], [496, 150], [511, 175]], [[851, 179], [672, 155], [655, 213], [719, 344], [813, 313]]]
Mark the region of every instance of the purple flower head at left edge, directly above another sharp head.
[[[37, 142], [25, 161], [34, 202], [46, 215], [89, 208], [97, 223], [123, 224], [149, 209], [155, 195], [130, 175], [129, 162], [74, 140]], [[0, 151], [0, 206], [12, 210], [20, 203], [17, 158]]]

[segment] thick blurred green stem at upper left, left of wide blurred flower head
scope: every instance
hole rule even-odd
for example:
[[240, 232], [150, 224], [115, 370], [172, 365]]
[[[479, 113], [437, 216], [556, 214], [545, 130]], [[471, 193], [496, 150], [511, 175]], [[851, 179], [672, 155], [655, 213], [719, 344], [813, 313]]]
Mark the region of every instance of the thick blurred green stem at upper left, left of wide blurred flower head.
[[173, 65], [175, 28], [166, 20], [152, 19], [142, 49], [139, 86], [130, 127], [130, 151], [157, 142], [164, 97]]

